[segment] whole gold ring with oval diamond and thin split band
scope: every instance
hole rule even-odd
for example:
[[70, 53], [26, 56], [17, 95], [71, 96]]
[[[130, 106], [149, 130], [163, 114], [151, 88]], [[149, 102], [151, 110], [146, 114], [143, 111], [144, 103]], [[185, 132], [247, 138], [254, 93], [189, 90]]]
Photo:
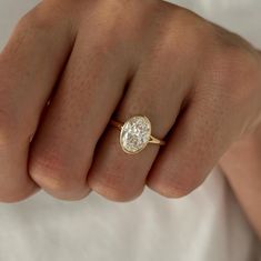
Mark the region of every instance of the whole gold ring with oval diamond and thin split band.
[[120, 130], [120, 144], [128, 154], [139, 153], [148, 143], [165, 144], [151, 134], [151, 122], [145, 116], [131, 117], [124, 123], [111, 120], [110, 124]]

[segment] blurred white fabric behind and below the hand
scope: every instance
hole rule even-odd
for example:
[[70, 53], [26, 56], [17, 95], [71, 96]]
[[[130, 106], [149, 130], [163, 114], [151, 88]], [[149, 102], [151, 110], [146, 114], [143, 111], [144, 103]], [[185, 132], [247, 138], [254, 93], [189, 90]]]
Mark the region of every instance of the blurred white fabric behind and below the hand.
[[[261, 47], [260, 0], [180, 0]], [[0, 0], [0, 48], [37, 0]], [[149, 190], [130, 203], [92, 193], [61, 202], [39, 193], [0, 204], [0, 261], [252, 261], [255, 238], [219, 169], [191, 195]]]

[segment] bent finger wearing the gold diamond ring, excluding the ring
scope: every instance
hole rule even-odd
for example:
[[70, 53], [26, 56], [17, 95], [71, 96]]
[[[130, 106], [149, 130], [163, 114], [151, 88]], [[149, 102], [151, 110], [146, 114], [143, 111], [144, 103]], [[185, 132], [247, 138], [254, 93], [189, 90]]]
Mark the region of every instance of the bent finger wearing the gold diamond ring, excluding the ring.
[[[163, 139], [175, 121], [187, 82], [181, 74], [172, 76], [170, 68], [175, 68], [175, 63], [171, 59], [163, 53], [152, 57], [140, 67], [113, 118], [124, 122], [132, 116], [147, 116], [152, 134]], [[127, 154], [120, 147], [119, 131], [109, 128], [99, 142], [88, 183], [110, 200], [133, 200], [142, 192], [158, 152], [158, 145], [148, 144], [138, 154]]]

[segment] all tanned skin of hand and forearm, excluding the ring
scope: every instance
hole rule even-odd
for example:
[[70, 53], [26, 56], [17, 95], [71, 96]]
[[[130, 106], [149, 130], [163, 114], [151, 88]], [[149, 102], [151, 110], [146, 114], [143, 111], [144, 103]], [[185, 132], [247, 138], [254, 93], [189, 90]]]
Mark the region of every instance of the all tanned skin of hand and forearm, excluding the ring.
[[[261, 234], [261, 56], [239, 36], [158, 0], [44, 0], [0, 54], [0, 92], [1, 202], [180, 198], [220, 163]], [[126, 154], [108, 123], [134, 114], [167, 145]]]

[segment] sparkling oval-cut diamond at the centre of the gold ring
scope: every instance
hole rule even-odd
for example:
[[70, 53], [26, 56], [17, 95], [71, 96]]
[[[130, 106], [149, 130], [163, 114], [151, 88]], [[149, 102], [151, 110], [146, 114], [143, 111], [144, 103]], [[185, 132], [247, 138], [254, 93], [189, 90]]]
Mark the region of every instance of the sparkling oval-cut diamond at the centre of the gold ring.
[[151, 135], [151, 123], [147, 117], [135, 116], [121, 129], [120, 143], [124, 151], [137, 153], [145, 148]]

